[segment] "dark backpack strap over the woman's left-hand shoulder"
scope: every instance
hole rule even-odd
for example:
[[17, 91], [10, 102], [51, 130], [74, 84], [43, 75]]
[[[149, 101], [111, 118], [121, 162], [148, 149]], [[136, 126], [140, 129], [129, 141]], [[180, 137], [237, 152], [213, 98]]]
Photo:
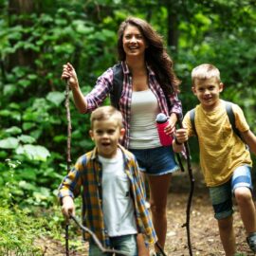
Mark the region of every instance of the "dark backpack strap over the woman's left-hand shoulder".
[[123, 86], [123, 71], [121, 64], [113, 66], [113, 89], [110, 92], [111, 105], [119, 109], [119, 100]]

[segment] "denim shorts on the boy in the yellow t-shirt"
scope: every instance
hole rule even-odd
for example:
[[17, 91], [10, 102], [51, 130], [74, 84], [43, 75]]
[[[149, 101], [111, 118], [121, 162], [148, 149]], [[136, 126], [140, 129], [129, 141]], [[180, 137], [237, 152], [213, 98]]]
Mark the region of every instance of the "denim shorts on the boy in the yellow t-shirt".
[[210, 188], [210, 200], [217, 220], [232, 215], [232, 195], [235, 189], [246, 187], [252, 192], [251, 168], [247, 165], [240, 166], [234, 170], [230, 180], [225, 184]]

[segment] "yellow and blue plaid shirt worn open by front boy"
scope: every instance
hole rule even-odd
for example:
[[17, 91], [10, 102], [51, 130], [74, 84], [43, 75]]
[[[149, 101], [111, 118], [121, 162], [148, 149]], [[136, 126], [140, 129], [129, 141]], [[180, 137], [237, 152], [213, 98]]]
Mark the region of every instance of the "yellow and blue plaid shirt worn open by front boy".
[[[137, 167], [135, 156], [119, 146], [124, 159], [124, 172], [130, 180], [130, 191], [135, 206], [137, 231], [144, 234], [145, 241], [150, 244], [156, 242], [155, 229], [150, 213], [145, 206], [142, 180]], [[91, 229], [104, 246], [109, 245], [109, 239], [103, 222], [102, 194], [101, 194], [101, 163], [98, 159], [97, 148], [82, 155], [76, 162], [72, 171], [64, 177], [59, 188], [59, 198], [78, 195], [83, 189], [83, 216], [84, 224]], [[89, 238], [87, 234], [86, 238]]]

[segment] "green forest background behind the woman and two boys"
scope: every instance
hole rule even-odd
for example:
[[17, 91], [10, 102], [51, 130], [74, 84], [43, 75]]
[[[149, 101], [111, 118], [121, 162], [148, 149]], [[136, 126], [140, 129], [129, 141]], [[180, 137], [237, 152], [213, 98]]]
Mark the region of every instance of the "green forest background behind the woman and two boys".
[[[184, 113], [197, 103], [192, 68], [215, 64], [222, 98], [238, 103], [256, 132], [254, 0], [1, 0], [0, 15], [0, 252], [37, 253], [39, 234], [63, 239], [56, 198], [66, 174], [63, 64], [75, 66], [82, 92], [89, 92], [117, 62], [118, 27], [129, 15], [163, 35], [182, 81]], [[72, 102], [70, 111], [74, 161], [93, 144], [89, 115]], [[196, 140], [190, 146], [198, 163]]]

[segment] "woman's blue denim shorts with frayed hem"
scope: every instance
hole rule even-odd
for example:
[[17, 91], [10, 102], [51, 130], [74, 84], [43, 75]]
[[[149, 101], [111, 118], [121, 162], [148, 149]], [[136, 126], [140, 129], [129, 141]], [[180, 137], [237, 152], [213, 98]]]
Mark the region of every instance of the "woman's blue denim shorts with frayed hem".
[[179, 169], [172, 146], [154, 149], [130, 149], [137, 158], [139, 170], [149, 175], [171, 174]]

